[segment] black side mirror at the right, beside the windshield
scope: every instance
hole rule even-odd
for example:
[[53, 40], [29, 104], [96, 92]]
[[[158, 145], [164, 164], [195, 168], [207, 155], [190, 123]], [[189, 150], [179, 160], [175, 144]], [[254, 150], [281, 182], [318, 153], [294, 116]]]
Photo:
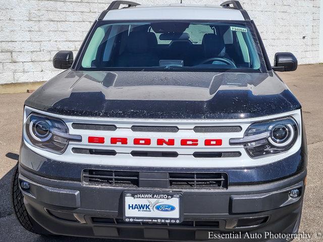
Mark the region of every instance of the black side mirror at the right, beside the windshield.
[[297, 59], [289, 52], [279, 52], [275, 54], [273, 70], [277, 72], [292, 72], [297, 69]]

